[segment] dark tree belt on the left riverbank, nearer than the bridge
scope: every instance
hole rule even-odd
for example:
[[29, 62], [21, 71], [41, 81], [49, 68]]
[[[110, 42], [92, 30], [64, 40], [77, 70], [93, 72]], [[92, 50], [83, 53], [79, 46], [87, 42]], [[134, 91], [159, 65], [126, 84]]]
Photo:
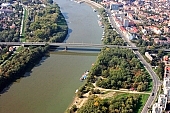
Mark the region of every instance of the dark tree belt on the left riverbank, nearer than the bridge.
[[[21, 77], [26, 70], [32, 68], [37, 60], [40, 60], [44, 56], [47, 50], [48, 46], [23, 48], [20, 49], [19, 53], [14, 53], [11, 56], [12, 58], [8, 58], [7, 61], [0, 66], [0, 91], [12, 81]], [[1, 54], [1, 57], [3, 58], [5, 54], [9, 56], [10, 53]]]

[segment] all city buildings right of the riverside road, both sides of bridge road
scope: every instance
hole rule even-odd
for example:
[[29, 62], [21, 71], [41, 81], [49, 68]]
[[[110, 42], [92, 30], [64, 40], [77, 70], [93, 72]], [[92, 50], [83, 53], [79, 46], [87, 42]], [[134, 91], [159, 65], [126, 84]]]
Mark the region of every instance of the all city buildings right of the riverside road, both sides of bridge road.
[[[137, 42], [137, 46], [169, 48], [170, 0], [103, 0], [101, 4], [111, 10], [116, 26], [128, 40]], [[138, 43], [139, 40], [141, 44]], [[157, 52], [153, 51], [145, 51], [144, 55], [151, 62], [158, 58]], [[165, 65], [162, 74], [163, 87], [160, 89], [162, 93], [157, 95], [156, 102], [148, 108], [151, 107], [152, 113], [169, 113], [167, 110], [170, 102], [169, 56], [164, 56], [158, 62], [163, 62]], [[155, 94], [152, 93], [152, 96]]]

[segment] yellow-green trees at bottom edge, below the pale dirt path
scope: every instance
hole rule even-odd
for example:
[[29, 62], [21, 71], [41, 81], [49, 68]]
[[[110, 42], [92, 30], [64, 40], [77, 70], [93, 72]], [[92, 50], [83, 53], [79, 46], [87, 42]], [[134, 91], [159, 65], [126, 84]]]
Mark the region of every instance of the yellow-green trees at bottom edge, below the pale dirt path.
[[138, 94], [120, 93], [106, 99], [92, 95], [77, 113], [138, 113], [142, 99], [143, 96]]

